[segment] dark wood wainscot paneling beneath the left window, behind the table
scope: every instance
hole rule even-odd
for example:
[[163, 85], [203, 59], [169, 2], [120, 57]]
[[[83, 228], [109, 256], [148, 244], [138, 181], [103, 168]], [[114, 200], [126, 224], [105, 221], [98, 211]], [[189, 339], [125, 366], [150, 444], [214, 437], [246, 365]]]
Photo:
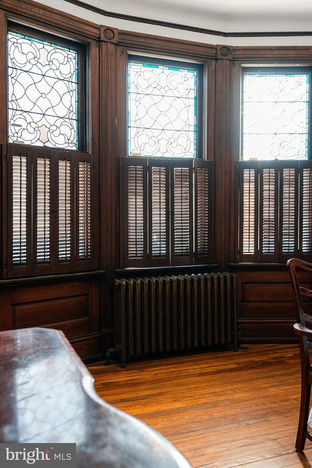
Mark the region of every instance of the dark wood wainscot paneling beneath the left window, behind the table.
[[[81, 357], [99, 355], [99, 285], [98, 279], [58, 284], [38, 279], [37, 284], [0, 289], [0, 329], [54, 328], [75, 340]], [[91, 340], [90, 335], [97, 337]]]

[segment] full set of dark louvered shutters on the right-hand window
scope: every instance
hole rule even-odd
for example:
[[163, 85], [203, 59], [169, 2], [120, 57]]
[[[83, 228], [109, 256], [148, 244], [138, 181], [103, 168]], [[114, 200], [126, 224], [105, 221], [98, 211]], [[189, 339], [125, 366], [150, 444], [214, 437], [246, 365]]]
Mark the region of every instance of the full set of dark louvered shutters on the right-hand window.
[[312, 161], [243, 161], [238, 168], [239, 260], [311, 260]]

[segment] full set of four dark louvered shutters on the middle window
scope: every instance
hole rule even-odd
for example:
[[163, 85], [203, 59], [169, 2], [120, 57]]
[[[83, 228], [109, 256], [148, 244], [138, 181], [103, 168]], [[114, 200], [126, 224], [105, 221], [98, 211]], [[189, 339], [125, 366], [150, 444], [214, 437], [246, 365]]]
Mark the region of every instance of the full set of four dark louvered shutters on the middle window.
[[212, 164], [120, 158], [121, 267], [211, 261]]

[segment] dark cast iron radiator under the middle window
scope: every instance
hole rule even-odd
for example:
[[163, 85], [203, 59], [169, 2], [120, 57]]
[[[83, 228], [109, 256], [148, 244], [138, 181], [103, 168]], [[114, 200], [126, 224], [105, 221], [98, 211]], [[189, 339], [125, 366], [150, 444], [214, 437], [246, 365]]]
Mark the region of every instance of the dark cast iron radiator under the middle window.
[[116, 348], [126, 357], [232, 345], [236, 275], [204, 273], [115, 280]]

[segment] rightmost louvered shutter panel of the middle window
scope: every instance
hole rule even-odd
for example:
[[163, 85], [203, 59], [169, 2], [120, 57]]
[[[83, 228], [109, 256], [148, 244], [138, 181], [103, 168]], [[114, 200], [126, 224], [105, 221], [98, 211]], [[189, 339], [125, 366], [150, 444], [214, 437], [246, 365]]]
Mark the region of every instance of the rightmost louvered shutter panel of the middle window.
[[212, 232], [214, 206], [212, 161], [194, 159], [194, 199], [195, 199], [195, 263], [213, 261]]

